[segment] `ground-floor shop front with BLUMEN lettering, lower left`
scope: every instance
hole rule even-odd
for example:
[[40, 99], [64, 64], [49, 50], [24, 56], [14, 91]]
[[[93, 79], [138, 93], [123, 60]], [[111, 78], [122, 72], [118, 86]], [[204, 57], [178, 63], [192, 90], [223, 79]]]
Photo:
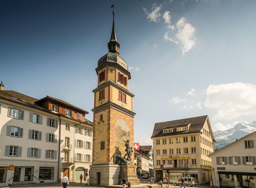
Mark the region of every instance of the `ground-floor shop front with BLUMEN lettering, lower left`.
[[4, 160], [0, 162], [0, 187], [24, 181], [57, 182], [57, 170], [57, 162]]

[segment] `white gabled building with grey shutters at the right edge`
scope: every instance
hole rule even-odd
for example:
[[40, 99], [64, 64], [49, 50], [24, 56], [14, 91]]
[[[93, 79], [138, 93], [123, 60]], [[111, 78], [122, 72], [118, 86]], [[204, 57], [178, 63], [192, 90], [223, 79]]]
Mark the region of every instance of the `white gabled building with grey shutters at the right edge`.
[[212, 158], [213, 186], [256, 187], [256, 131], [221, 148]]

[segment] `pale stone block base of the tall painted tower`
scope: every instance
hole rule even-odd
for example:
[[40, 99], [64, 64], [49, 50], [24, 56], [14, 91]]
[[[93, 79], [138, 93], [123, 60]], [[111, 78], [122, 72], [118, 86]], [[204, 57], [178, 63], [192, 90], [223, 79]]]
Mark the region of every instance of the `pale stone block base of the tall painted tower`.
[[93, 164], [90, 165], [90, 184], [92, 185], [120, 185], [120, 165]]

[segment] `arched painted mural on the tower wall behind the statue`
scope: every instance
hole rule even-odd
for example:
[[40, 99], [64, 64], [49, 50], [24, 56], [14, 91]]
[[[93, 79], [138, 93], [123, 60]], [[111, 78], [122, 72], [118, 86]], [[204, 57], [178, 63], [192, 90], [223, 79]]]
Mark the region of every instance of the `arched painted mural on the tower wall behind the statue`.
[[[131, 141], [130, 128], [127, 122], [123, 119], [118, 119], [115, 125], [115, 147], [119, 147], [119, 151], [125, 154], [125, 142], [123, 140]], [[131, 145], [131, 142], [130, 142]], [[123, 156], [123, 155], [122, 155]]]

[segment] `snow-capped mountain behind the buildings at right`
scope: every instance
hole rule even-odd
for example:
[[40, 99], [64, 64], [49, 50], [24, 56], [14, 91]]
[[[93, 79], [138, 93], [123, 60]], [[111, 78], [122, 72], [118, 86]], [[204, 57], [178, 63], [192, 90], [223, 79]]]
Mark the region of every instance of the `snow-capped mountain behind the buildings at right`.
[[213, 131], [216, 140], [214, 143], [214, 149], [223, 148], [224, 146], [234, 142], [236, 139], [240, 139], [254, 131], [256, 131], [256, 121], [253, 121], [251, 124], [239, 122], [231, 129]]

